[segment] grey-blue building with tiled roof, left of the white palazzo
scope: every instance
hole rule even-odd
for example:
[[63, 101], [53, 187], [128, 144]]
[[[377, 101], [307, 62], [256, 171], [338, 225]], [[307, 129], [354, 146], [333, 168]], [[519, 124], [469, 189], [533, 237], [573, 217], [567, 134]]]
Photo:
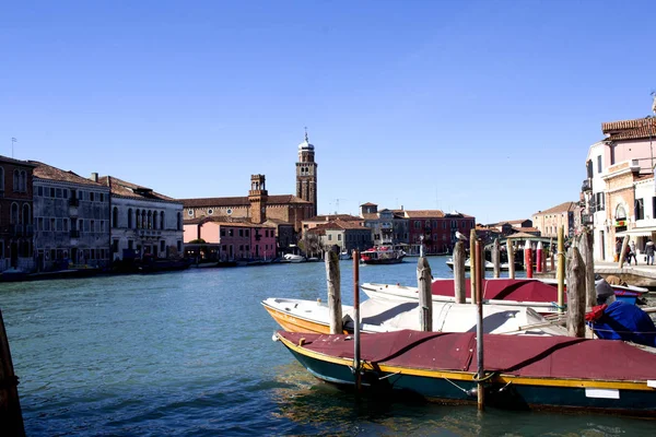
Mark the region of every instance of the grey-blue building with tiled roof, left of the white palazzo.
[[[34, 256], [37, 271], [69, 263], [105, 267], [109, 258], [109, 187], [50, 165], [34, 168]], [[93, 180], [95, 179], [95, 180]]]

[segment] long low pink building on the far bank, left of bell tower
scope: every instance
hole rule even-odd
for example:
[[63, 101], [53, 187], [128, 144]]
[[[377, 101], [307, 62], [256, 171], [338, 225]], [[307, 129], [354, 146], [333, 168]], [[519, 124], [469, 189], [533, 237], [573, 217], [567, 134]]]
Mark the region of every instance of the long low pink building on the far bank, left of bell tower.
[[185, 244], [203, 239], [216, 245], [222, 260], [271, 259], [276, 257], [276, 227], [244, 222], [226, 222], [220, 217], [187, 221]]

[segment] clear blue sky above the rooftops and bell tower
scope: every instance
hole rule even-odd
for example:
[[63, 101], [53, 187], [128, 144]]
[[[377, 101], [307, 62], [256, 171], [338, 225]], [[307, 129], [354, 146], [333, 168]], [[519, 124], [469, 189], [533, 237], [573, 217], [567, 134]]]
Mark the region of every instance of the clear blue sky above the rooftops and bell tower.
[[604, 121], [644, 117], [656, 2], [42, 1], [0, 5], [0, 154], [174, 198], [294, 193], [319, 213], [576, 200]]

